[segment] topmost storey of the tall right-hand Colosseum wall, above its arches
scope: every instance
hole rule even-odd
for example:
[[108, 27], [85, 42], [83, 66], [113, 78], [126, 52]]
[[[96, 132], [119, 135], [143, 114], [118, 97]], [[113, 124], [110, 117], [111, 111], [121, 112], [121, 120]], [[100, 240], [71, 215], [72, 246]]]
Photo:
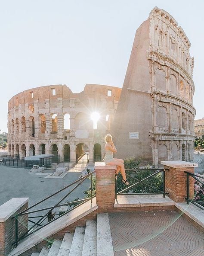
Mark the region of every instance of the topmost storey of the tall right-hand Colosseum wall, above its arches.
[[157, 6], [151, 10], [148, 19], [150, 20], [149, 50], [172, 58], [192, 77], [194, 58], [191, 58], [189, 53], [191, 43], [181, 26], [178, 26], [169, 13]]

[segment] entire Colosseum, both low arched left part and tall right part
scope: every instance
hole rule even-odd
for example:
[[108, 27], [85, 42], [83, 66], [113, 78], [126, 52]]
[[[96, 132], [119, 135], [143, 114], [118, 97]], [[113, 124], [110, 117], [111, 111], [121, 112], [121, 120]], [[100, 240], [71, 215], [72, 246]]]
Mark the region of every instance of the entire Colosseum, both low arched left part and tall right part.
[[[190, 46], [176, 20], [155, 7], [136, 31], [122, 89], [87, 84], [72, 93], [65, 85], [42, 86], [9, 100], [9, 154], [54, 154], [75, 162], [87, 151], [90, 162], [102, 160], [104, 135], [111, 131], [117, 158], [134, 155], [155, 167], [162, 160], [191, 161]], [[100, 114], [98, 122], [93, 113]]]

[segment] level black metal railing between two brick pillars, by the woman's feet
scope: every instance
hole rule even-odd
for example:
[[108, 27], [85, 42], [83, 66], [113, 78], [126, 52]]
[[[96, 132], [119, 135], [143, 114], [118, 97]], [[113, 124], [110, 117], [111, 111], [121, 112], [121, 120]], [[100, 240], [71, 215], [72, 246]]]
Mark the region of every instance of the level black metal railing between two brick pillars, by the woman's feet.
[[[165, 192], [165, 171], [166, 170], [168, 170], [168, 169], [161, 169], [161, 168], [157, 168], [157, 169], [125, 169], [126, 177], [130, 183], [130, 186], [128, 186], [125, 189], [122, 189], [121, 191], [118, 191], [117, 179], [115, 179], [115, 198], [117, 198], [117, 195], [155, 195], [155, 194], [163, 195], [163, 197], [165, 197], [165, 195], [168, 194]], [[144, 171], [150, 171], [153, 173], [145, 178], [142, 178], [141, 180], [138, 179], [137, 176], [139, 176], [139, 172], [144, 172]], [[161, 189], [155, 188], [146, 182], [147, 180], [150, 180], [150, 182], [151, 182], [152, 178], [160, 175], [160, 173], [162, 174], [160, 177], [161, 182], [162, 182]], [[135, 174], [135, 175], [133, 176], [133, 174]], [[147, 192], [132, 193], [131, 190], [133, 190], [133, 188], [139, 184], [140, 185], [142, 184], [142, 186], [149, 188], [151, 191], [153, 190], [154, 192], [147, 191]]]

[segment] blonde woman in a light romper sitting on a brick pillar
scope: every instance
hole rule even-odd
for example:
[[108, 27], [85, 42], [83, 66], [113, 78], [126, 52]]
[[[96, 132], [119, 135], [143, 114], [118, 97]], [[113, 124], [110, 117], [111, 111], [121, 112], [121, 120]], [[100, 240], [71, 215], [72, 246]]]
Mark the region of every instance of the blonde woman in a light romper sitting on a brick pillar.
[[115, 177], [117, 179], [118, 173], [121, 171], [121, 174], [123, 176], [122, 182], [124, 182], [127, 186], [129, 185], [129, 182], [126, 179], [125, 175], [125, 167], [124, 167], [124, 160], [113, 158], [113, 152], [117, 152], [116, 147], [113, 144], [112, 136], [111, 134], [107, 134], [105, 136], [105, 158], [104, 162], [107, 165], [117, 165], [117, 169], [115, 172]]

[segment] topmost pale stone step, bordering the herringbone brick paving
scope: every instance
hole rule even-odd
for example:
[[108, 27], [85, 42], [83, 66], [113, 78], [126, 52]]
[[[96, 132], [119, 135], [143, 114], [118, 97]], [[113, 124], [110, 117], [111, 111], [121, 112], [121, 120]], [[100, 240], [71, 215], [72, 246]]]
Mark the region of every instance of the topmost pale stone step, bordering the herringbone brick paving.
[[97, 256], [114, 256], [107, 213], [97, 214]]

